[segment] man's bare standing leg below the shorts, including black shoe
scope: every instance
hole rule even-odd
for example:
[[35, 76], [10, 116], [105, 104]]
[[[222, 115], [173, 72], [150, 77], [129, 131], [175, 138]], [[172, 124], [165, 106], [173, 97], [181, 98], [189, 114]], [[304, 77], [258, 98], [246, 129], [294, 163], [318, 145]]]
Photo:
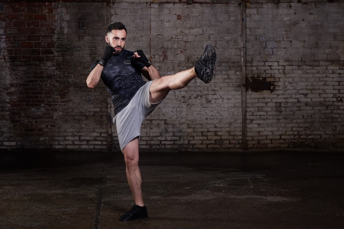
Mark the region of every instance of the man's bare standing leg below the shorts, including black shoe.
[[131, 140], [122, 150], [124, 155], [126, 173], [131, 192], [134, 196], [135, 205], [130, 211], [122, 215], [119, 220], [129, 221], [140, 218], [147, 218], [147, 209], [142, 197], [142, 178], [139, 168], [139, 138]]

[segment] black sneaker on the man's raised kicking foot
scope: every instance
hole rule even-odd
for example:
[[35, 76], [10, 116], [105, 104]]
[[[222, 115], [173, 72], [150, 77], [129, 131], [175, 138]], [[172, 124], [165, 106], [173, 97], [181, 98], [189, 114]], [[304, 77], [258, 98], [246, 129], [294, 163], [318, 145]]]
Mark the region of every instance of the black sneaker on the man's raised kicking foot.
[[213, 78], [216, 51], [212, 45], [205, 47], [204, 53], [195, 64], [195, 72], [204, 83], [209, 83]]

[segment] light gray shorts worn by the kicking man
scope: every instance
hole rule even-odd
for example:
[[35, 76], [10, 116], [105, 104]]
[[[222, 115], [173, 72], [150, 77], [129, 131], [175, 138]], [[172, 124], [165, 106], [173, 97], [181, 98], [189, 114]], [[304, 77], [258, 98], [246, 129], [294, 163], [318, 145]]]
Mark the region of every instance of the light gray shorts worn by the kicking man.
[[141, 124], [159, 104], [149, 102], [149, 88], [153, 81], [144, 84], [113, 119], [117, 128], [119, 147], [121, 150], [134, 138], [140, 137]]

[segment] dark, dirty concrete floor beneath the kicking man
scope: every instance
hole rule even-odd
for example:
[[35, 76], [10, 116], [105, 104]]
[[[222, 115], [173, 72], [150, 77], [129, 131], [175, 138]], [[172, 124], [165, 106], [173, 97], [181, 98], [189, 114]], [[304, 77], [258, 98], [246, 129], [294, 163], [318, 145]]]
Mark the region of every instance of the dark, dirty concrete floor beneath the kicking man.
[[338, 229], [344, 152], [141, 153], [148, 219], [121, 153], [3, 152], [1, 229]]

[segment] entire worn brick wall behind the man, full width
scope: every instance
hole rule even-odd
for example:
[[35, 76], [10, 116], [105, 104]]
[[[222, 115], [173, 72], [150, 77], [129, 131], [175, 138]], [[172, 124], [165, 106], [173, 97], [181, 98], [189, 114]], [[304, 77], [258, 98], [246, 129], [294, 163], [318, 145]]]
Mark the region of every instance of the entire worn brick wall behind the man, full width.
[[0, 3], [0, 149], [119, 150], [104, 85], [86, 87], [114, 21], [163, 76], [217, 48], [213, 81], [171, 92], [142, 150], [344, 149], [343, 3], [167, 2]]

